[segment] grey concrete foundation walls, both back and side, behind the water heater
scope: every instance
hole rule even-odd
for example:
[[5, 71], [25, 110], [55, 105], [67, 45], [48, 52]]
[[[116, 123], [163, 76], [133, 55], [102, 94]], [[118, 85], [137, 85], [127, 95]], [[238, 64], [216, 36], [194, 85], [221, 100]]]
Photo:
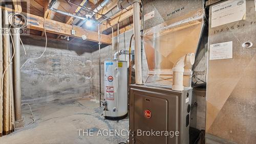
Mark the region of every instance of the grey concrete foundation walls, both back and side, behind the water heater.
[[[133, 30], [119, 35], [119, 50], [129, 50]], [[28, 58], [39, 57], [45, 49], [45, 39], [22, 37], [27, 51], [21, 47], [21, 63]], [[117, 52], [114, 37], [114, 53]], [[134, 40], [132, 41], [134, 50]], [[104, 97], [104, 61], [112, 59], [112, 45], [101, 49], [101, 93]], [[120, 60], [129, 61], [129, 55]], [[129, 65], [129, 63], [128, 63]], [[143, 80], [147, 75], [147, 62], [143, 53]], [[99, 98], [99, 51], [83, 50], [79, 45], [48, 40], [47, 50], [40, 59], [28, 61], [22, 68], [22, 101], [45, 103], [63, 99]]]

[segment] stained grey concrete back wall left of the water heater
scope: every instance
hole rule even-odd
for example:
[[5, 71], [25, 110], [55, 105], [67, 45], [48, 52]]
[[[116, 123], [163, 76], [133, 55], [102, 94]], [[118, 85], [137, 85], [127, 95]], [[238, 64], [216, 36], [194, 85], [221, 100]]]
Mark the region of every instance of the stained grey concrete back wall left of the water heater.
[[[45, 39], [22, 37], [27, 55], [21, 51], [22, 64], [39, 57]], [[22, 68], [22, 101], [44, 103], [68, 98], [87, 97], [91, 92], [92, 55], [78, 45], [48, 40], [40, 59], [30, 60]]]

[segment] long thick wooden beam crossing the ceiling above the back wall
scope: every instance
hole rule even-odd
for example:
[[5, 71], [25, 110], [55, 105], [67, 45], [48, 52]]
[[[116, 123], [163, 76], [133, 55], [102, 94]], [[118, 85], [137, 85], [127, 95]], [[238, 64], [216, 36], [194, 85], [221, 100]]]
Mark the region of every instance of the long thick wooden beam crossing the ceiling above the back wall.
[[[2, 9], [7, 11], [14, 11], [9, 8], [2, 7]], [[25, 16], [27, 16], [28, 19], [28, 28], [32, 30], [38, 30], [38, 31], [44, 31], [44, 18], [40, 16], [36, 16], [33, 14], [24, 13]], [[46, 32], [58, 34], [58, 35], [64, 35], [64, 36], [70, 36], [75, 38], [82, 38], [82, 35], [87, 36], [87, 40], [89, 41], [95, 41], [98, 42], [98, 33], [94, 31], [89, 31], [80, 27], [73, 27], [71, 25], [68, 25], [66, 23], [62, 23], [59, 21], [51, 20], [51, 19], [45, 19], [46, 20]], [[73, 27], [73, 28], [72, 28]], [[71, 34], [71, 30], [75, 30], [75, 35]], [[101, 35], [101, 42], [104, 44], [111, 44], [112, 38], [108, 35]]]

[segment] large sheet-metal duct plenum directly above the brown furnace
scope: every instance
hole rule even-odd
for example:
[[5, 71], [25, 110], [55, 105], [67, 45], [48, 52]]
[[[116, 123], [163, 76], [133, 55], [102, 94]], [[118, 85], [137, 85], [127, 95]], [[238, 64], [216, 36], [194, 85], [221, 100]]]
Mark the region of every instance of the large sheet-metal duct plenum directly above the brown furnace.
[[[143, 46], [149, 71], [146, 83], [172, 85], [172, 68], [176, 60], [188, 53], [196, 54], [200, 47], [205, 27], [205, 12], [202, 7], [202, 1], [191, 3], [193, 9], [189, 9], [189, 11], [184, 1], [171, 1], [170, 3], [172, 4], [167, 6], [164, 6], [165, 1], [160, 3], [166, 9], [171, 5], [174, 12], [163, 12], [163, 8], [158, 9], [158, 4], [155, 4], [154, 9], [151, 6], [149, 8], [146, 7], [147, 5], [145, 6], [145, 9], [154, 10], [156, 16], [146, 20], [144, 26], [148, 28], [143, 35]], [[148, 10], [145, 11], [148, 12]], [[154, 20], [159, 19], [159, 15], [161, 15], [162, 21], [164, 21], [160, 24], [158, 20]], [[157, 18], [157, 16], [159, 17]], [[202, 57], [197, 56], [197, 58], [201, 60]], [[183, 83], [187, 87], [191, 86], [191, 69], [191, 66], [185, 67]]]

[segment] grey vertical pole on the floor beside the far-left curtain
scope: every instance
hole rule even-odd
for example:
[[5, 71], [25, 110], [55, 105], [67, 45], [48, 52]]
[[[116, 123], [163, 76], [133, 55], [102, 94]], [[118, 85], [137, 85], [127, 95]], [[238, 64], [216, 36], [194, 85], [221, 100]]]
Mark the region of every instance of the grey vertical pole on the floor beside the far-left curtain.
[[15, 121], [22, 119], [22, 88], [20, 83], [20, 41], [19, 29], [13, 29], [13, 43], [15, 54], [13, 58], [13, 86], [14, 86], [14, 109]]

